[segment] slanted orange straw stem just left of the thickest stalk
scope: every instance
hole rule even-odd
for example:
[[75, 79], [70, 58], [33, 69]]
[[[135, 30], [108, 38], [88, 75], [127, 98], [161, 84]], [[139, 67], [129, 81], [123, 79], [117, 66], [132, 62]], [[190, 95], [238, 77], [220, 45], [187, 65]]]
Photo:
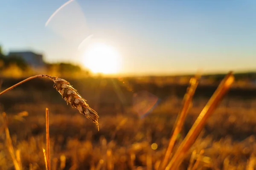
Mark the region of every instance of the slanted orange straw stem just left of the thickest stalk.
[[181, 131], [183, 125], [184, 125], [187, 113], [189, 111], [190, 106], [192, 105], [192, 98], [195, 94], [195, 90], [198, 86], [198, 82], [199, 82], [200, 78], [201, 78], [201, 74], [197, 74], [195, 77], [192, 77], [190, 79], [190, 86], [187, 88], [187, 92], [184, 95], [183, 107], [182, 107], [180, 113], [177, 116], [175, 126], [174, 126], [174, 130], [173, 130], [172, 136], [169, 140], [169, 145], [166, 149], [164, 159], [163, 159], [162, 163], [160, 164], [160, 168], [159, 168], [160, 170], [164, 170], [165, 167], [167, 166], [168, 162], [169, 162], [169, 159], [170, 159], [171, 154], [172, 154], [172, 149], [175, 145], [177, 136], [180, 133], [180, 131]]

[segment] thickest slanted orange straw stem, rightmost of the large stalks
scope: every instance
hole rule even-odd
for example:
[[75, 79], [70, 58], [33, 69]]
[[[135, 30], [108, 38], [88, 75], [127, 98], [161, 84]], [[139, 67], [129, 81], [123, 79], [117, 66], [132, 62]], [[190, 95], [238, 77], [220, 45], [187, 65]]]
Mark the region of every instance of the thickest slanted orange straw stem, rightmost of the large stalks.
[[212, 97], [207, 102], [207, 105], [201, 111], [200, 115], [196, 119], [194, 125], [189, 130], [189, 133], [186, 135], [185, 139], [182, 141], [174, 156], [172, 157], [170, 163], [166, 167], [166, 170], [177, 170], [181, 162], [186, 156], [186, 153], [189, 151], [192, 144], [197, 139], [199, 133], [203, 129], [206, 124], [209, 116], [215, 111], [219, 102], [226, 94], [226, 92], [230, 89], [231, 85], [234, 82], [233, 72], [230, 72], [224, 77], [217, 90], [214, 92]]

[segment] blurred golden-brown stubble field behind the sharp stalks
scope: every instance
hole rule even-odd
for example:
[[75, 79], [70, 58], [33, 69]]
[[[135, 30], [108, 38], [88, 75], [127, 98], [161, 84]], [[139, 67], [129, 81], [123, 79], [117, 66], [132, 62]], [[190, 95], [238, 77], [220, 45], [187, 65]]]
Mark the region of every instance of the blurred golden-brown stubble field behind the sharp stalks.
[[[47, 79], [34, 79], [3, 94], [1, 111], [9, 119], [27, 111], [23, 121], [9, 124], [15, 149], [21, 152], [23, 167], [44, 168], [42, 147], [45, 146], [45, 108], [50, 111], [50, 142], [53, 166], [60, 167], [65, 156], [65, 169], [154, 169], [160, 163], [177, 113], [182, 107], [189, 76], [176, 77], [87, 77], [66, 79], [99, 113], [96, 126], [66, 105]], [[23, 78], [1, 78], [4, 90]], [[158, 79], [161, 79], [161, 84]], [[178, 82], [177, 79], [183, 79]], [[247, 77], [245, 77], [247, 79]], [[166, 82], [165, 82], [166, 80]], [[248, 79], [247, 79], [248, 80]], [[250, 83], [234, 87], [207, 121], [203, 132], [187, 154], [181, 169], [187, 169], [192, 151], [209, 161], [200, 162], [204, 169], [245, 169], [256, 153], [255, 88]], [[181, 141], [217, 88], [218, 80], [201, 82], [195, 92]], [[12, 169], [13, 163], [1, 135], [0, 166]], [[177, 145], [179, 142], [177, 143]], [[103, 160], [103, 161], [102, 161]], [[229, 164], [229, 165], [227, 165]], [[213, 166], [213, 167], [212, 167]]]

